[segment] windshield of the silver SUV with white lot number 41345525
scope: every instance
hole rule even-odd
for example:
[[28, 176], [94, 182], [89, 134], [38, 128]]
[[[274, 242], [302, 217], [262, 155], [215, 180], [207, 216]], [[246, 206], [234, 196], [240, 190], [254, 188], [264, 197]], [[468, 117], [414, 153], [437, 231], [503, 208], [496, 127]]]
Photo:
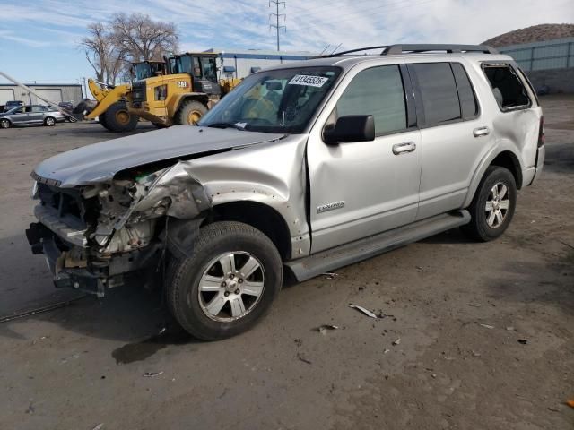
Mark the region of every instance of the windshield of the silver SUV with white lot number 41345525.
[[255, 73], [198, 123], [267, 133], [302, 133], [341, 73], [338, 67], [300, 67]]

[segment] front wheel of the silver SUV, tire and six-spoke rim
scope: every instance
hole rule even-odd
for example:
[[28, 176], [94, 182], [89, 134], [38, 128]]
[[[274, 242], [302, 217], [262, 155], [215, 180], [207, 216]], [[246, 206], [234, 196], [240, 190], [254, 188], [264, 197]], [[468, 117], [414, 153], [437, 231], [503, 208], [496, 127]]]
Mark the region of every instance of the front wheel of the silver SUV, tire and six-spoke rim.
[[216, 222], [200, 230], [193, 254], [172, 257], [166, 282], [178, 323], [202, 340], [247, 331], [269, 309], [283, 282], [273, 242], [257, 228]]

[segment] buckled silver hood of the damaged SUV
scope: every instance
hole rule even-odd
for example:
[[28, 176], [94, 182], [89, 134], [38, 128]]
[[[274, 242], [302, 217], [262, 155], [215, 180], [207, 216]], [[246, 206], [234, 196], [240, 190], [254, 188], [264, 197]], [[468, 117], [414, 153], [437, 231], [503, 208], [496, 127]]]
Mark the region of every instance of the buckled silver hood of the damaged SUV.
[[176, 125], [69, 150], [42, 161], [34, 172], [41, 178], [57, 181], [61, 187], [88, 185], [109, 181], [126, 168], [270, 142], [282, 136], [233, 128]]

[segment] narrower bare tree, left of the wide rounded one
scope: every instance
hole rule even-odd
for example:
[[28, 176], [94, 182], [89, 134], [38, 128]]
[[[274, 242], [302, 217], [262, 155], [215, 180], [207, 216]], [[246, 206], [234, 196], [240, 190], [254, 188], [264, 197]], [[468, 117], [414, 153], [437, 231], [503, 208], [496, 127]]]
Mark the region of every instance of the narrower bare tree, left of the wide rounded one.
[[81, 47], [88, 63], [96, 73], [96, 80], [115, 84], [126, 61], [126, 51], [117, 47], [109, 24], [95, 22], [88, 26], [90, 36], [83, 38]]

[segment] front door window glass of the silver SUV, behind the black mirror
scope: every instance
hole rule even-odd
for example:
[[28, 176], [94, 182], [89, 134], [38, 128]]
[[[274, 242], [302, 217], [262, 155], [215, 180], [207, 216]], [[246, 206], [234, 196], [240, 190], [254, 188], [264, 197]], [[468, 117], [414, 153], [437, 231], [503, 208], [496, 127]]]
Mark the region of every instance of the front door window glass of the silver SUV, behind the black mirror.
[[398, 66], [386, 65], [363, 70], [344, 90], [337, 102], [337, 116], [372, 115], [375, 133], [406, 128], [406, 110]]

